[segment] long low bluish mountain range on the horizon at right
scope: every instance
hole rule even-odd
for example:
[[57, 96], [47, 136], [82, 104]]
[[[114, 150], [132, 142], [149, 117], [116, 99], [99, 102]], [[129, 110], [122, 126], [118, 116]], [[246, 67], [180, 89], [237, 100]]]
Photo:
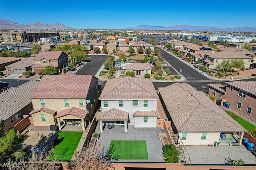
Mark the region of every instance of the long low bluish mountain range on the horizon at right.
[[212, 31], [212, 32], [256, 32], [256, 28], [253, 27], [236, 27], [236, 28], [217, 28], [208, 26], [149, 26], [140, 25], [136, 27], [128, 27], [125, 30], [176, 30], [176, 31]]

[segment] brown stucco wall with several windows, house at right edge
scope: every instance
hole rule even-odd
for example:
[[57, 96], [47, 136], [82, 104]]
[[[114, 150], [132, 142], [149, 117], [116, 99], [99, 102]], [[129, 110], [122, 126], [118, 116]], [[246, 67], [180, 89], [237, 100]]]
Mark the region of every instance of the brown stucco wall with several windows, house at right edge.
[[[232, 108], [235, 111], [237, 111], [238, 113], [248, 117], [249, 119], [256, 121], [256, 108], [255, 108], [256, 96], [252, 95], [250, 93], [247, 93], [246, 99], [244, 99], [244, 98], [238, 96], [239, 89], [233, 87], [232, 91], [229, 91], [229, 90], [230, 90], [230, 86], [227, 85], [225, 98], [227, 99], [227, 102], [230, 103], [230, 108]], [[241, 109], [236, 108], [238, 101], [242, 103]], [[251, 115], [246, 113], [247, 106], [253, 108]]]

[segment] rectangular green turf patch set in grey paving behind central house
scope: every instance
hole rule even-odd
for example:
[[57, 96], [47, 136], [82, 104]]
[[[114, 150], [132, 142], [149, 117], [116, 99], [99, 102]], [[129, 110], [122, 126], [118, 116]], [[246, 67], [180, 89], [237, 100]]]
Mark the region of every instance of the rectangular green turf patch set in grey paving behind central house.
[[117, 159], [148, 159], [146, 140], [111, 140], [109, 155]]

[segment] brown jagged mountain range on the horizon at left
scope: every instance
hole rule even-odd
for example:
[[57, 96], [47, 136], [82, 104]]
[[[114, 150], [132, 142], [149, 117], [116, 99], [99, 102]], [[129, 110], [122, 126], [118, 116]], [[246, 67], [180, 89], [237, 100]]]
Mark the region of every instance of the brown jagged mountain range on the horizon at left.
[[43, 22], [30, 22], [28, 24], [20, 24], [18, 22], [13, 22], [9, 20], [4, 20], [0, 18], [0, 29], [31, 29], [31, 30], [40, 30], [40, 29], [56, 29], [56, 30], [73, 30], [74, 28], [64, 26], [63, 24], [53, 23], [53, 24], [44, 24]]

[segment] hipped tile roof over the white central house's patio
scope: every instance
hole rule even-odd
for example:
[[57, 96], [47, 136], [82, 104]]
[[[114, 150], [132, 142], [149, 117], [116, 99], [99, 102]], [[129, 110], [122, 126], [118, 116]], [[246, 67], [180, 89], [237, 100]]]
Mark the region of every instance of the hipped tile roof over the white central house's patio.
[[95, 117], [98, 121], [128, 121], [129, 113], [116, 108], [112, 108], [107, 111], [98, 112]]

